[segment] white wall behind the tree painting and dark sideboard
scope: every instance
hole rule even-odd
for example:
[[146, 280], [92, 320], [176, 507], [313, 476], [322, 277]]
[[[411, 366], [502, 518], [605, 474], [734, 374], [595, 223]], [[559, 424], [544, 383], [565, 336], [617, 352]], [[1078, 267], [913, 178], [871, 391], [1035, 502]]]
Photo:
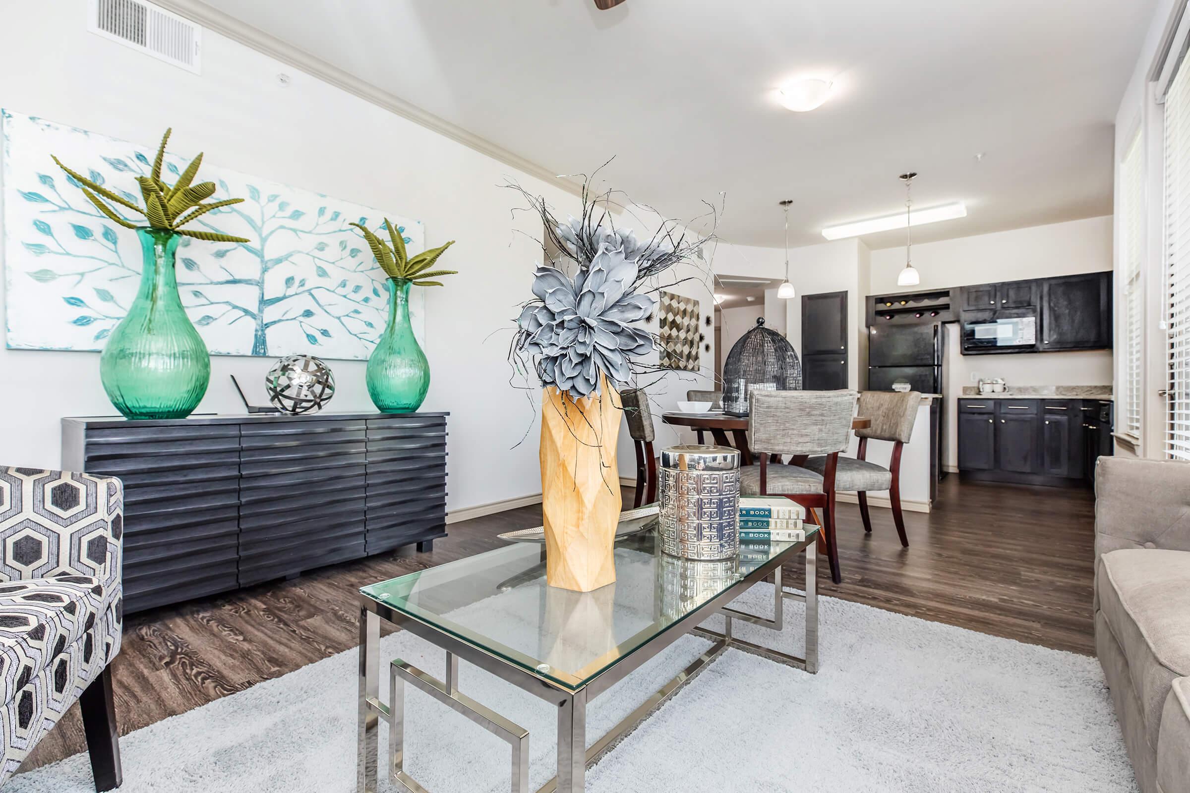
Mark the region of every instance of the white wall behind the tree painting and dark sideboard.
[[[563, 216], [577, 199], [211, 31], [203, 74], [194, 75], [86, 32], [86, 0], [6, 5], [0, 105], [150, 145], [173, 126], [178, 151], [419, 219], [430, 246], [457, 240], [441, 264], [461, 275], [427, 290], [432, 380], [422, 407], [451, 411], [449, 506], [539, 493], [537, 394], [509, 385], [506, 357], [541, 259], [532, 241], [540, 221], [513, 214], [521, 203], [499, 185], [512, 176]], [[278, 84], [282, 71], [288, 87]], [[605, 156], [591, 152], [591, 162]], [[699, 296], [709, 314], [699, 283], [675, 291]], [[198, 410], [243, 413], [228, 375], [257, 383], [271, 363], [213, 357]], [[338, 386], [330, 409], [372, 410], [364, 363], [330, 364]], [[57, 466], [61, 417], [114, 414], [96, 353], [0, 348], [0, 372], [6, 465]], [[706, 378], [688, 379], [702, 386]]]

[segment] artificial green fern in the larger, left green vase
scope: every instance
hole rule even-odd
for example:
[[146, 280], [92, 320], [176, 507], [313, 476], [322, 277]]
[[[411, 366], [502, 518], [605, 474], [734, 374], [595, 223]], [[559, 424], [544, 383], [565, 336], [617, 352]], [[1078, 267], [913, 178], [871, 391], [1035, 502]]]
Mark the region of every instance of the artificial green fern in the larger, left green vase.
[[169, 140], [170, 132], [173, 132], [173, 128], [165, 130], [165, 134], [161, 139], [161, 146], [157, 147], [157, 157], [152, 161], [151, 176], [137, 177], [137, 183], [140, 185], [140, 195], [145, 201], [144, 209], [104, 185], [90, 181], [86, 176], [70, 170], [57, 157], [50, 156], [54, 157], [54, 162], [58, 164], [58, 168], [79, 182], [83, 195], [95, 204], [96, 209], [107, 215], [112, 222], [119, 224], [125, 228], [136, 228], [137, 225], [125, 220], [119, 213], [104, 203], [100, 197], [144, 215], [149, 225], [154, 228], [168, 229], [183, 237], [193, 237], [194, 239], [207, 240], [208, 243], [251, 241], [243, 237], [232, 237], [231, 234], [221, 234], [219, 232], [194, 232], [182, 228], [183, 225], [205, 215], [212, 209], [230, 207], [233, 203], [239, 203], [243, 199], [227, 199], [226, 201], [202, 203], [214, 195], [215, 183], [200, 182], [199, 184], [193, 184], [194, 177], [199, 172], [199, 165], [202, 163], [201, 153], [186, 166], [186, 170], [177, 177], [177, 182], [173, 187], [165, 184], [161, 180], [161, 166], [165, 161], [165, 141]]

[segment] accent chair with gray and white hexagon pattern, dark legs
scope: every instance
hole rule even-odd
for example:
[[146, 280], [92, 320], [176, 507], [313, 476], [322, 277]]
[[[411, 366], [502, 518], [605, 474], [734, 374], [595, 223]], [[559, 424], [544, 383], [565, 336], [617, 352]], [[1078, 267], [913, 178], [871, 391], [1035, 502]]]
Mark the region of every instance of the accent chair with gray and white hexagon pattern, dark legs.
[[0, 785], [79, 700], [95, 789], [120, 786], [108, 665], [120, 650], [123, 535], [119, 479], [0, 468]]

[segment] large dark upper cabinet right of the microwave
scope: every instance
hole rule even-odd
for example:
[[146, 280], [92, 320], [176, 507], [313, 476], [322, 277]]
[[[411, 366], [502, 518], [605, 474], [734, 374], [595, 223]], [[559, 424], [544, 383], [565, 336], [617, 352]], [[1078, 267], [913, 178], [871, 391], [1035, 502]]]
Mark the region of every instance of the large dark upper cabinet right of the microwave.
[[1089, 272], [1041, 282], [1041, 351], [1110, 346], [1110, 272]]

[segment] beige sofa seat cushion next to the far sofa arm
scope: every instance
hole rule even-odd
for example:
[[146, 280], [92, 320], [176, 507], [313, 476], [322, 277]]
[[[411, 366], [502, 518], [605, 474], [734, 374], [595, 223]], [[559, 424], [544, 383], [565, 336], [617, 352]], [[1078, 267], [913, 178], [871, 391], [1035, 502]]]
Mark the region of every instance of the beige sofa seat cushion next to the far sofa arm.
[[1100, 556], [1100, 609], [1128, 659], [1148, 744], [1175, 679], [1190, 674], [1190, 553], [1125, 548]]

